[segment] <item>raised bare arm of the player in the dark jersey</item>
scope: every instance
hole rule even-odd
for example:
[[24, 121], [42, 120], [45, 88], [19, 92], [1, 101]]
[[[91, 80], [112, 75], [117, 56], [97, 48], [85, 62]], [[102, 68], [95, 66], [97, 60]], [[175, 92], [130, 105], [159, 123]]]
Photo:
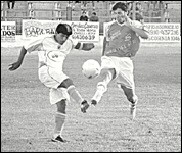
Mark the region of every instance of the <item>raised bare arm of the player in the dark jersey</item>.
[[128, 26], [130, 29], [132, 29], [134, 32], [136, 32], [141, 38], [148, 39], [148, 34], [143, 29], [139, 29], [135, 26], [132, 26], [132, 20], [129, 19], [128, 16], [126, 16], [126, 26]]

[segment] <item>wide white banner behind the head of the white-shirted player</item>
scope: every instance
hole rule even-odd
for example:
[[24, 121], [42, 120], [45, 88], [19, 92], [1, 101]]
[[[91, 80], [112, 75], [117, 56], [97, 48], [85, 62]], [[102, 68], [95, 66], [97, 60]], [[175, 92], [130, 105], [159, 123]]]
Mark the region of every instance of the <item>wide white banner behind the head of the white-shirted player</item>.
[[54, 34], [57, 25], [60, 23], [66, 23], [72, 27], [71, 39], [73, 40], [99, 41], [99, 22], [89, 21], [23, 20], [23, 38]]

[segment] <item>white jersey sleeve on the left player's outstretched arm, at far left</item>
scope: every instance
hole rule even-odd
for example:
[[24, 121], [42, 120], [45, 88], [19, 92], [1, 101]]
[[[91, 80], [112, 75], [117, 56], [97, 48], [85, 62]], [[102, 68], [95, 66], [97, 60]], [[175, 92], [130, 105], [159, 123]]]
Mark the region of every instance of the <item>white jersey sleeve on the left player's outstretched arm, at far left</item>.
[[41, 38], [36, 38], [34, 40], [31, 40], [30, 42], [26, 43], [24, 45], [24, 48], [29, 52], [38, 51], [42, 47], [42, 41]]

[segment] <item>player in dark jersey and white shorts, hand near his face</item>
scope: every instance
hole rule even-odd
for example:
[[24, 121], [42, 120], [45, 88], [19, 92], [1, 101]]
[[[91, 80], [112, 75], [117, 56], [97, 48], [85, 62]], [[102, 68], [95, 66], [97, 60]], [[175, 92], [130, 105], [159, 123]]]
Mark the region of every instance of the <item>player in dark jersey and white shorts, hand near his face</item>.
[[108, 83], [115, 80], [130, 102], [130, 112], [134, 119], [138, 97], [135, 94], [132, 57], [139, 49], [139, 37], [147, 39], [148, 34], [139, 21], [127, 16], [127, 4], [118, 2], [113, 6], [113, 11], [116, 21], [111, 21], [103, 41], [102, 81], [97, 84], [91, 103], [96, 105], [107, 91]]

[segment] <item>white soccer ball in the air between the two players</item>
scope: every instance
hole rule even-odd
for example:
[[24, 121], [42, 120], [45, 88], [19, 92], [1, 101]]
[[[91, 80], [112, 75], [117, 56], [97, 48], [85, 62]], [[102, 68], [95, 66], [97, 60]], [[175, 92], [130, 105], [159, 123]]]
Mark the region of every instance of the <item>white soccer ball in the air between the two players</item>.
[[89, 59], [83, 63], [82, 73], [87, 79], [94, 79], [100, 73], [100, 64], [94, 59]]

